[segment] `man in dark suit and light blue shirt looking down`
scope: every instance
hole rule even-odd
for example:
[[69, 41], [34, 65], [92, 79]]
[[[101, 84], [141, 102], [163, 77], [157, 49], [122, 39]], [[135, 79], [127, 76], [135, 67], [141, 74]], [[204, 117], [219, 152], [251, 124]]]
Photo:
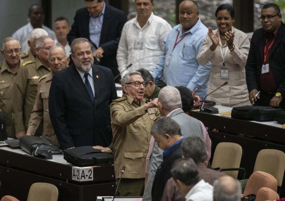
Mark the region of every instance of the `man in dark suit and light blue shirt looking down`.
[[67, 40], [71, 44], [78, 37], [87, 38], [91, 42], [93, 56], [100, 60], [100, 65], [110, 68], [116, 76], [119, 74], [116, 54], [126, 15], [107, 5], [104, 0], [84, 2], [86, 7], [76, 11]]

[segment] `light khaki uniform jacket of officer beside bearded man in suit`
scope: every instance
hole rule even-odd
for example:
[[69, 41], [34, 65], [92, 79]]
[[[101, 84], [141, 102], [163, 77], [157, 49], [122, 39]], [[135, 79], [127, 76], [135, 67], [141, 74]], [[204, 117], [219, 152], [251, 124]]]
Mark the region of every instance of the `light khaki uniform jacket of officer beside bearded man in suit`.
[[29, 120], [29, 127], [27, 133], [34, 135], [36, 133], [39, 124], [43, 119], [44, 128], [42, 132], [42, 137], [49, 139], [57, 146], [59, 146], [58, 140], [53, 130], [53, 125], [50, 122], [50, 115], [48, 113], [48, 95], [52, 79], [53, 79], [53, 72], [50, 72], [49, 74], [42, 76], [39, 80], [39, 85], [37, 88], [37, 96]]

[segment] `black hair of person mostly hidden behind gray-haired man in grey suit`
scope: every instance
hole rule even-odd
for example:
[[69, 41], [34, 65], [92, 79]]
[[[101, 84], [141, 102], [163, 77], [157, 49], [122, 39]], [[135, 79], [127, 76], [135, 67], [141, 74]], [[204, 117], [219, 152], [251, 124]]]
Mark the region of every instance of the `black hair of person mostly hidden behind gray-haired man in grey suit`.
[[193, 108], [194, 105], [194, 97], [192, 95], [192, 91], [187, 87], [175, 87], [180, 92], [181, 101], [182, 101], [182, 110], [184, 112], [189, 112]]

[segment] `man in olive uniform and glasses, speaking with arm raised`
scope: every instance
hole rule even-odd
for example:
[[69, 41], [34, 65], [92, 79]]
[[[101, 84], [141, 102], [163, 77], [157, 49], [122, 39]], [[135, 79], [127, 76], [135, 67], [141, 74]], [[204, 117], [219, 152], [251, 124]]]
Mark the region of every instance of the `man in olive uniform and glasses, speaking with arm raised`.
[[126, 166], [118, 196], [142, 195], [150, 130], [160, 116], [157, 99], [148, 103], [143, 98], [146, 83], [140, 75], [137, 71], [125, 74], [122, 79], [123, 97], [113, 100], [110, 105], [117, 182], [121, 168]]

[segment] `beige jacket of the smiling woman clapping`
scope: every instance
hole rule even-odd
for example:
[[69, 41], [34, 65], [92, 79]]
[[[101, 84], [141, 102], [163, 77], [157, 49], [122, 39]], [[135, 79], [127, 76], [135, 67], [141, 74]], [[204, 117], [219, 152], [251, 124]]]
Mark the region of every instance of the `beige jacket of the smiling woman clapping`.
[[[218, 29], [213, 31], [213, 33], [215, 34], [216, 31], [218, 31], [220, 37]], [[212, 41], [207, 35], [204, 39], [201, 50], [197, 55], [197, 61], [200, 65], [205, 65], [208, 62], [212, 63], [208, 93], [221, 86], [224, 82], [228, 82], [227, 85], [209, 95], [208, 100], [213, 100], [218, 105], [228, 107], [250, 105], [245, 71], [250, 43], [245, 33], [232, 27], [232, 32], [233, 31], [235, 31], [233, 42], [235, 49], [232, 52], [229, 51], [226, 44], [222, 47], [221, 40], [216, 50], [211, 51], [210, 46], [212, 45]], [[225, 66], [223, 66], [220, 47], [222, 47], [223, 55], [227, 51], [225, 56]], [[221, 78], [221, 70], [223, 69], [228, 70], [228, 78]]]

